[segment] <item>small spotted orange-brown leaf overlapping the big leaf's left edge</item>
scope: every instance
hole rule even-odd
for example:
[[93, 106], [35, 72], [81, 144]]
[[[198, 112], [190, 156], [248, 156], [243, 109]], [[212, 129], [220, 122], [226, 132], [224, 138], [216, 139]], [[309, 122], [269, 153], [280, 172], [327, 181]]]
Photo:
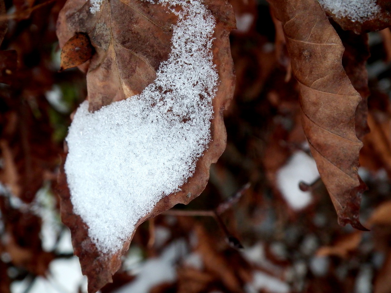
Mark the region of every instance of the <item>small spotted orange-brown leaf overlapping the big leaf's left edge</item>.
[[61, 68], [59, 71], [85, 63], [91, 58], [92, 54], [93, 46], [88, 35], [77, 32], [65, 43], [61, 50]]

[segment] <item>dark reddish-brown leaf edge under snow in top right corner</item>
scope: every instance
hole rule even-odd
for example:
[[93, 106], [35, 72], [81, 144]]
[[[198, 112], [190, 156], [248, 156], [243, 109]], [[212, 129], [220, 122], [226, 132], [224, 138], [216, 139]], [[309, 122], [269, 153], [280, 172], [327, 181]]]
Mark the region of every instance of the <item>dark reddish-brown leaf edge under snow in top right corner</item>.
[[364, 20], [351, 20], [346, 16], [337, 16], [325, 7], [325, 12], [331, 16], [344, 30], [352, 30], [356, 34], [382, 30], [391, 25], [391, 2], [377, 0], [378, 13]]

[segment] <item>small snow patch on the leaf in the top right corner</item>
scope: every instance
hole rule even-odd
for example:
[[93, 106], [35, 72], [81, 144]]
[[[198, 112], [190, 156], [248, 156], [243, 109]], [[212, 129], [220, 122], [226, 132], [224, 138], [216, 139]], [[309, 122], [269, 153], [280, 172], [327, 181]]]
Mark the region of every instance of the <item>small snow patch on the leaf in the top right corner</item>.
[[318, 0], [323, 9], [337, 17], [347, 17], [352, 21], [366, 21], [376, 17], [380, 8], [375, 0]]

